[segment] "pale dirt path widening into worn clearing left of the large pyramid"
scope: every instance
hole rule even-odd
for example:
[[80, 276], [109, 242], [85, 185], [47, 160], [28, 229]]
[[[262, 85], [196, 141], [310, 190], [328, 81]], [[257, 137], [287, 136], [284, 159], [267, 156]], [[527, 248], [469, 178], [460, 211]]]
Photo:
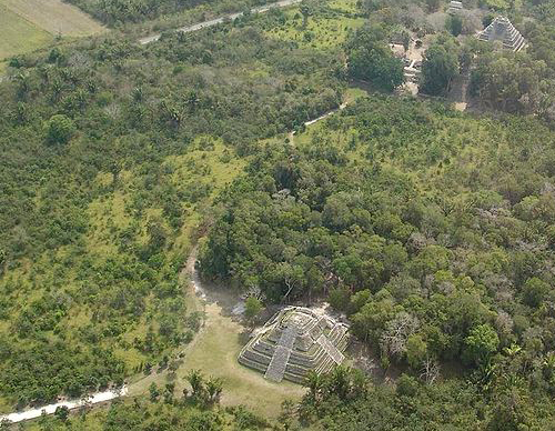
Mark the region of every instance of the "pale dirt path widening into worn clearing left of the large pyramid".
[[[287, 0], [289, 4], [299, 0]], [[306, 121], [305, 126], [314, 124], [333, 113], [347, 107], [349, 102], [343, 102], [337, 109], [329, 111], [314, 120]], [[294, 132], [290, 133], [294, 137]], [[293, 139], [291, 139], [293, 144]], [[145, 377], [134, 377], [130, 382], [118, 391], [105, 391], [91, 394], [87, 401], [71, 400], [57, 404], [49, 404], [38, 409], [14, 412], [0, 417], [12, 422], [21, 422], [39, 418], [42, 411], [52, 414], [56, 408], [65, 405], [70, 410], [80, 408], [85, 403], [93, 405], [119, 397], [137, 397], [147, 393], [149, 387], [154, 382], [163, 385], [165, 382], [174, 381], [176, 393], [179, 394], [185, 387], [185, 377], [190, 370], [199, 369], [206, 374], [215, 375], [224, 381], [224, 394], [222, 404], [236, 405], [244, 404], [253, 411], [266, 417], [276, 418], [281, 411], [281, 402], [285, 399], [299, 401], [305, 389], [301, 385], [283, 381], [273, 383], [264, 380], [263, 377], [253, 370], [242, 367], [236, 358], [241, 348], [246, 342], [248, 328], [245, 328], [234, 310], [238, 301], [233, 294], [206, 287], [200, 280], [195, 269], [196, 247], [191, 251], [184, 268], [180, 273], [180, 282], [185, 287], [185, 297], [191, 299], [189, 305], [192, 311], [201, 311], [204, 321], [194, 335], [193, 340], [183, 347], [179, 355], [184, 357], [180, 368], [170, 373], [168, 370], [153, 371]]]

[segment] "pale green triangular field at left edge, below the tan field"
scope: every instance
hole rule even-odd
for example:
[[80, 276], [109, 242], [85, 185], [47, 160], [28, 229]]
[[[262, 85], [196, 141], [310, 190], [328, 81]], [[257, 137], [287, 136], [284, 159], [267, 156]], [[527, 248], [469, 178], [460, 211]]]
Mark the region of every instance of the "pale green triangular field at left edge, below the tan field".
[[39, 49], [53, 40], [52, 34], [9, 10], [3, 0], [0, 2], [0, 60]]

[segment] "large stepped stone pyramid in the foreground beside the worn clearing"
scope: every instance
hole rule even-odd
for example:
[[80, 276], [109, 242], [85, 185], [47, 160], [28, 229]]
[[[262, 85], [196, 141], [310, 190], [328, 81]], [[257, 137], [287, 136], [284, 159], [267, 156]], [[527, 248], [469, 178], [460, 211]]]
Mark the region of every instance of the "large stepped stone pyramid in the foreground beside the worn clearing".
[[239, 362], [275, 382], [302, 383], [310, 371], [327, 372], [341, 364], [349, 327], [302, 307], [287, 307], [256, 331]]

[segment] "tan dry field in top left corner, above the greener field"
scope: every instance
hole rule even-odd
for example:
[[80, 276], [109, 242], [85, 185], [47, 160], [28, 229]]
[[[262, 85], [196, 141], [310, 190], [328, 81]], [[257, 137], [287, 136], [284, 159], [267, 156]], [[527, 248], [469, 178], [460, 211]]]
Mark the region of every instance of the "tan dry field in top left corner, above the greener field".
[[0, 3], [53, 36], [90, 36], [104, 30], [91, 17], [61, 0], [0, 0]]

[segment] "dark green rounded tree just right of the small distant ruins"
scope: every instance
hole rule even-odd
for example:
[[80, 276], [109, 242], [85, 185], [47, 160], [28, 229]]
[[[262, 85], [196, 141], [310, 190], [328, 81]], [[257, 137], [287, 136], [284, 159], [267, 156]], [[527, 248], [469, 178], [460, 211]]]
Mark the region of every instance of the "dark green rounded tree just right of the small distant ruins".
[[437, 41], [424, 53], [421, 91], [431, 96], [445, 94], [458, 73], [458, 49], [450, 40]]

